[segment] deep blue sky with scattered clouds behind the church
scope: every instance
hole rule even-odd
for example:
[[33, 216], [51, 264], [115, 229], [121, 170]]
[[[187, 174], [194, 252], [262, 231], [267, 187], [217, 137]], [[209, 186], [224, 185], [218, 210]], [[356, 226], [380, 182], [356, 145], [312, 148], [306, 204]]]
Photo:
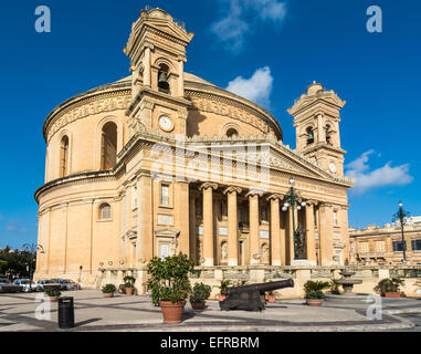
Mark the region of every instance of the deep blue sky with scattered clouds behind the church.
[[[42, 124], [64, 100], [128, 75], [123, 53], [146, 4], [196, 33], [186, 71], [264, 105], [295, 146], [294, 98], [315, 80], [348, 103], [341, 145], [352, 226], [390, 222], [401, 199], [421, 215], [419, 111], [421, 2], [417, 0], [72, 0], [8, 1], [0, 22], [3, 152], [0, 247], [36, 240], [34, 190], [43, 184]], [[382, 33], [369, 33], [369, 6]], [[51, 33], [34, 30], [38, 6]]]

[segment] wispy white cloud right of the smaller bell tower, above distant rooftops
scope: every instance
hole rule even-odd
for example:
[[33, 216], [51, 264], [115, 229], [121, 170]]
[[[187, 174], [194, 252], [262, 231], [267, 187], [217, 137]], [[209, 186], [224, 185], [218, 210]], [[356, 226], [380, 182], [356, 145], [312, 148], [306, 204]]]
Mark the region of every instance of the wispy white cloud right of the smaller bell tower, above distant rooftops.
[[409, 175], [409, 164], [392, 167], [391, 162], [389, 162], [383, 167], [370, 170], [368, 160], [373, 153], [372, 149], [368, 150], [345, 166], [347, 168], [346, 175], [356, 178], [352, 194], [362, 195], [369, 189], [406, 186], [412, 183], [413, 177]]

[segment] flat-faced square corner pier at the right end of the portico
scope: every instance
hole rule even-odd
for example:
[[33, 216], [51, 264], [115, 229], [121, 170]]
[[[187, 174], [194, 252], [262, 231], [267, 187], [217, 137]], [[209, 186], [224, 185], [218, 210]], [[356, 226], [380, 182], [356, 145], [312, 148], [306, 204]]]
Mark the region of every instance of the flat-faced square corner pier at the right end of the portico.
[[323, 204], [319, 207], [319, 252], [320, 266], [331, 266], [334, 263], [334, 209], [330, 204]]

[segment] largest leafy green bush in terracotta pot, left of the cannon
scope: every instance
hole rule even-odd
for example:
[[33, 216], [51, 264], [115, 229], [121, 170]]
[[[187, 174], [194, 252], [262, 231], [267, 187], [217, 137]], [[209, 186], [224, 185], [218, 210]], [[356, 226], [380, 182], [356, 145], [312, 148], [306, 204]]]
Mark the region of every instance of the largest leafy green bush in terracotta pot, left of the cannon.
[[165, 323], [181, 322], [186, 299], [191, 290], [189, 272], [194, 261], [186, 254], [155, 257], [147, 266], [148, 289], [151, 290], [152, 303], [159, 304]]

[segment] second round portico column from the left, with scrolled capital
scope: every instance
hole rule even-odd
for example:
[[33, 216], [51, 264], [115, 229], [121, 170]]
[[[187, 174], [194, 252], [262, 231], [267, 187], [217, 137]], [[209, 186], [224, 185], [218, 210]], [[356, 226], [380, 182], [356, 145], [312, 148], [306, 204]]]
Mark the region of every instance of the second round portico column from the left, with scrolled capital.
[[228, 266], [239, 266], [239, 218], [236, 195], [240, 187], [228, 187], [223, 194], [228, 195]]

